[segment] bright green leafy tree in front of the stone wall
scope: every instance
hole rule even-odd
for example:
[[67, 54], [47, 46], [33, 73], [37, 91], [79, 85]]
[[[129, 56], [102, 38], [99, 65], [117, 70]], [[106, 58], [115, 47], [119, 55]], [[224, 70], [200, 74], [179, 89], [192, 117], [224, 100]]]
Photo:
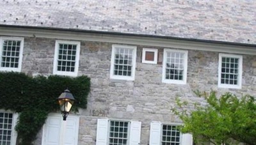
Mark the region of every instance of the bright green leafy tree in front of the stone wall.
[[237, 98], [236, 95], [226, 93], [218, 98], [214, 91], [197, 91], [196, 95], [204, 97], [207, 105], [195, 103], [195, 110], [189, 112], [186, 109], [188, 103], [177, 99], [179, 107], [172, 109], [184, 122], [182, 132], [193, 134], [196, 142], [255, 144], [256, 100], [253, 96]]

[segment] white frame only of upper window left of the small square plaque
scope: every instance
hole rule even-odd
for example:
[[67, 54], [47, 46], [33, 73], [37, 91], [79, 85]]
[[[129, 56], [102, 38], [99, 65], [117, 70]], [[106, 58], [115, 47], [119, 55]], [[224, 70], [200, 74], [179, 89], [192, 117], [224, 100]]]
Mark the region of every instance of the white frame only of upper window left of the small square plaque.
[[[114, 74], [115, 49], [116, 48], [133, 49], [133, 51], [132, 51], [132, 72], [131, 72], [131, 76], [123, 76], [123, 75], [115, 75]], [[110, 79], [134, 80], [134, 78], [135, 78], [135, 68], [136, 68], [136, 53], [137, 53], [137, 47], [136, 46], [112, 45], [111, 66], [110, 66]]]

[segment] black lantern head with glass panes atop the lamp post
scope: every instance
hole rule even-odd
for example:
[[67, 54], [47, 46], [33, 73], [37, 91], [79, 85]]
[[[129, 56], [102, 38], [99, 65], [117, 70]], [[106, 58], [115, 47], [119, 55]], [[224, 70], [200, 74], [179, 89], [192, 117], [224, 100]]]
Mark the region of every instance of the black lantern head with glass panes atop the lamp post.
[[63, 116], [63, 120], [65, 121], [67, 119], [68, 113], [75, 101], [74, 96], [68, 89], [65, 89], [63, 93], [58, 98], [58, 102], [60, 104], [60, 110], [61, 114]]

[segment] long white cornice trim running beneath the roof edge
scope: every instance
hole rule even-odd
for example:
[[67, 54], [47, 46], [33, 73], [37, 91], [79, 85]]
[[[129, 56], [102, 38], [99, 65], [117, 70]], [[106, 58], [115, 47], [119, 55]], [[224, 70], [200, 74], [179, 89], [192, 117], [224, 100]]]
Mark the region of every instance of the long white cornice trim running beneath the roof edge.
[[84, 40], [92, 42], [125, 43], [130, 45], [147, 45], [153, 47], [169, 47], [186, 50], [205, 50], [212, 52], [227, 52], [234, 54], [256, 55], [255, 47], [246, 47], [232, 44], [193, 42], [187, 40], [173, 40], [165, 38], [148, 38], [144, 36], [124, 36], [114, 34], [92, 34], [71, 31], [47, 30], [47, 29], [24, 29], [4, 27], [1, 35], [6, 36], [29, 36], [38, 38], [53, 38], [63, 40]]

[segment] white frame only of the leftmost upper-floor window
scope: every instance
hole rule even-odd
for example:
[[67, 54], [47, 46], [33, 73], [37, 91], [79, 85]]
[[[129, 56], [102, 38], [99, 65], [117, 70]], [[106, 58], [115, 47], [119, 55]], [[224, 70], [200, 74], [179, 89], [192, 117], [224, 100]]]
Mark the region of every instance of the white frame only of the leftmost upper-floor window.
[[[2, 53], [3, 53], [3, 42], [4, 40], [17, 40], [20, 41], [20, 51], [19, 51], [19, 65], [18, 68], [9, 68], [9, 67], [2, 67]], [[24, 38], [21, 37], [1, 37], [0, 38], [0, 71], [8, 71], [8, 72], [21, 72], [21, 65], [22, 65], [22, 56], [23, 56], [23, 47], [24, 47]]]

